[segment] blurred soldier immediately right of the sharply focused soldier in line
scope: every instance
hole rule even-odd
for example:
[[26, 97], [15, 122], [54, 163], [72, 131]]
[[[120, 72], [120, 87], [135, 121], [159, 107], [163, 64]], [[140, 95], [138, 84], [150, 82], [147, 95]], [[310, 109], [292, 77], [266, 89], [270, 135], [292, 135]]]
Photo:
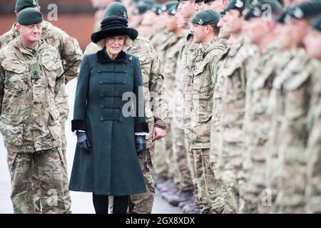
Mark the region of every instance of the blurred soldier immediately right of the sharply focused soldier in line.
[[[242, 3], [242, 2], [241, 2]], [[243, 2], [244, 3], [244, 2]], [[229, 10], [229, 8], [234, 6]], [[225, 57], [223, 67], [219, 68], [218, 75], [225, 78], [222, 88], [218, 136], [213, 143], [213, 155], [218, 155], [215, 167], [215, 177], [223, 182], [223, 197], [225, 212], [238, 212], [240, 207], [240, 185], [244, 183], [243, 154], [244, 130], [243, 119], [245, 110], [245, 85], [247, 64], [250, 58], [256, 58], [257, 48], [253, 46], [242, 31], [244, 5], [233, 1], [226, 9], [225, 16], [227, 30], [233, 40], [228, 56]], [[240, 12], [238, 12], [240, 11]], [[220, 95], [218, 95], [220, 96]], [[216, 135], [216, 134], [215, 134]], [[215, 137], [215, 136], [214, 136]], [[218, 141], [218, 142], [217, 142]], [[217, 150], [217, 152], [215, 152]]]

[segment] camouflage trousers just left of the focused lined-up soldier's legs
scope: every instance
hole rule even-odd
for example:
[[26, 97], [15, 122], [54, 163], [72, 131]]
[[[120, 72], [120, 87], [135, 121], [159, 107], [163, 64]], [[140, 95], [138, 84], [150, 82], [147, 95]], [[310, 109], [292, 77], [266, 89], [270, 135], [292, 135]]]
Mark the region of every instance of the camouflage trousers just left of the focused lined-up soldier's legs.
[[[190, 175], [190, 161], [188, 161], [188, 145], [186, 145], [184, 131], [177, 128], [175, 123], [172, 122], [172, 145], [173, 145], [173, 157], [175, 166], [177, 167], [178, 180], [176, 185], [182, 191], [194, 190], [193, 179]], [[173, 165], [173, 164], [170, 164]], [[193, 172], [193, 171], [192, 171]], [[174, 175], [175, 177], [175, 175]], [[175, 178], [174, 178], [175, 182]]]

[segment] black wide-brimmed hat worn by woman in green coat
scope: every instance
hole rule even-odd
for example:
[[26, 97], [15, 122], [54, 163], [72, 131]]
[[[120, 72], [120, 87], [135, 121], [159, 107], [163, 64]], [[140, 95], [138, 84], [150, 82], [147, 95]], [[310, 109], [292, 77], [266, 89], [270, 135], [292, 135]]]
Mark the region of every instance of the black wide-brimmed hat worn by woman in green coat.
[[97, 43], [103, 38], [124, 35], [134, 40], [138, 36], [138, 31], [134, 28], [128, 28], [128, 21], [123, 17], [108, 16], [101, 22], [101, 31], [97, 31], [91, 35], [91, 41]]

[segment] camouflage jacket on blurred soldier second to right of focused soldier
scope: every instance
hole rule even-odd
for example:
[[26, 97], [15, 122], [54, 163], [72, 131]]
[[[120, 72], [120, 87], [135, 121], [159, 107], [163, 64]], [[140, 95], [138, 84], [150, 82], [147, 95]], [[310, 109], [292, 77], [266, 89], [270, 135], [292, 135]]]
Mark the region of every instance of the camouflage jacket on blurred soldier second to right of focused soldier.
[[260, 55], [259, 61], [254, 59], [249, 64], [253, 64], [250, 72], [247, 72], [247, 101], [248, 107], [245, 110], [246, 121], [244, 123], [245, 135], [248, 139], [245, 144], [248, 157], [253, 161], [265, 162], [265, 143], [270, 130], [270, 116], [267, 115], [267, 100], [272, 90], [272, 83], [276, 76], [277, 55], [284, 50], [280, 43], [273, 41]]

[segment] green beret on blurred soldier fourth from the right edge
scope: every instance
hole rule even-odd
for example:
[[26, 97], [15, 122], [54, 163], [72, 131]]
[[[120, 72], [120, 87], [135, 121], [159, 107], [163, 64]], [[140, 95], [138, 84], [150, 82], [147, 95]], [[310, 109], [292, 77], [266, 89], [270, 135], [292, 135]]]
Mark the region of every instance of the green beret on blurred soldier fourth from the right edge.
[[275, 0], [265, 0], [260, 1], [258, 4], [255, 4], [250, 7], [248, 10], [248, 13], [245, 15], [245, 20], [248, 21], [255, 17], [262, 16], [263, 12], [266, 10], [263, 8], [265, 4], [269, 4], [271, 6], [271, 11], [273, 14], [277, 14], [277, 12], [280, 12], [282, 10], [282, 5]]

